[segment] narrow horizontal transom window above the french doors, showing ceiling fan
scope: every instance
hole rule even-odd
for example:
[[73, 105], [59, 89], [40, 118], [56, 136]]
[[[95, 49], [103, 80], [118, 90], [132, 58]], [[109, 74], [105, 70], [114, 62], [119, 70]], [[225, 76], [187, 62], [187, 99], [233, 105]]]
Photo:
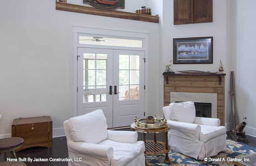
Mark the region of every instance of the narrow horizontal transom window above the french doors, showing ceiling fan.
[[105, 38], [105, 37], [93, 37], [93, 36], [82, 36], [82, 35], [79, 35], [79, 44], [94, 44], [94, 45], [142, 48], [142, 40]]

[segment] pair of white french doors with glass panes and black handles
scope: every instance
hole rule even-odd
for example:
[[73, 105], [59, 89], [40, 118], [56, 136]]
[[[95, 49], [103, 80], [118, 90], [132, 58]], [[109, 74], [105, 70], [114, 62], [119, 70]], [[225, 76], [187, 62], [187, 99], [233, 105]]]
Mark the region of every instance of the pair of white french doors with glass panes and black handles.
[[78, 48], [77, 114], [102, 109], [108, 127], [144, 116], [144, 51]]

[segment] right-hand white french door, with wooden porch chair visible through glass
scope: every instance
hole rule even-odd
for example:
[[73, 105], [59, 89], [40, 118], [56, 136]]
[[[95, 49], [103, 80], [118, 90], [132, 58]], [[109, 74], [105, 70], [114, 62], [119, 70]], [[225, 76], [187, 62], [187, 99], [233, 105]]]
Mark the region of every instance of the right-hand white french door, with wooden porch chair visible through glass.
[[144, 51], [114, 50], [113, 127], [144, 117], [143, 58]]

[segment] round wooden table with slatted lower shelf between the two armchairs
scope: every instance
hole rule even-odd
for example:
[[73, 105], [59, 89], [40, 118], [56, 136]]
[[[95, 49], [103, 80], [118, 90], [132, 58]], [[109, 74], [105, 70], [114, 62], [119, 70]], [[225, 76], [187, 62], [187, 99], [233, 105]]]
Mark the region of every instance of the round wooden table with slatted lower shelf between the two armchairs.
[[[170, 147], [168, 146], [168, 131], [170, 127], [165, 126], [162, 128], [136, 128], [134, 123], [131, 124], [131, 129], [137, 132], [143, 133], [143, 141], [145, 143], [145, 155], [162, 155], [165, 154], [165, 161], [169, 163], [168, 152], [170, 151]], [[157, 141], [156, 134], [165, 132], [165, 142]], [[146, 133], [153, 133], [154, 140], [146, 140]], [[147, 165], [147, 164], [146, 164]]]

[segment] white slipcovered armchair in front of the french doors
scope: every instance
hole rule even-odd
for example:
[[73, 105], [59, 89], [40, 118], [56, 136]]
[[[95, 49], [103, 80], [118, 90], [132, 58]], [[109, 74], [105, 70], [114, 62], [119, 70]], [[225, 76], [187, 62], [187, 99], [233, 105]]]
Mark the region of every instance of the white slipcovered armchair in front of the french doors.
[[[144, 166], [145, 145], [135, 131], [107, 130], [102, 110], [64, 122], [69, 166]], [[74, 160], [76, 159], [76, 161]]]

